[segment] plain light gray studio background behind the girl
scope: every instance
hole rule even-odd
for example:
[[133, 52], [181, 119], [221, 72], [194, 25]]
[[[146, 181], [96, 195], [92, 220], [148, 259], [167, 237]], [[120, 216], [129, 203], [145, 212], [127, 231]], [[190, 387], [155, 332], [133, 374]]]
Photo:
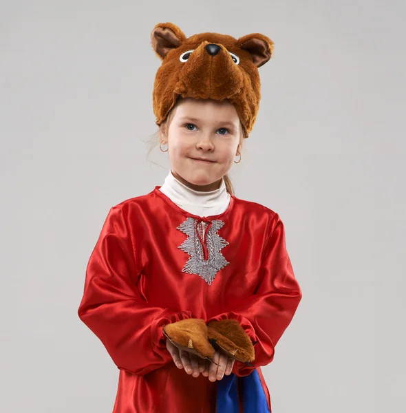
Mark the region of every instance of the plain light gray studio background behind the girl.
[[231, 174], [239, 198], [281, 215], [303, 290], [263, 370], [273, 412], [406, 411], [405, 9], [2, 1], [1, 412], [112, 410], [118, 370], [76, 311], [109, 208], [167, 175], [167, 153], [147, 160], [145, 144], [149, 35], [165, 21], [275, 41]]

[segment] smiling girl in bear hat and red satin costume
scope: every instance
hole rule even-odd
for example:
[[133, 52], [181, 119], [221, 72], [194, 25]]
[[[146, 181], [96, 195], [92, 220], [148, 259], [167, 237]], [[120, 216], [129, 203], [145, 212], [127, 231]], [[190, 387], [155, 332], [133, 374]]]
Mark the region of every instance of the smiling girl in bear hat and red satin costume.
[[[255, 122], [257, 68], [273, 42], [258, 33], [186, 39], [172, 23], [156, 25], [151, 42], [162, 59], [153, 109], [171, 170], [161, 187], [110, 209], [78, 315], [120, 369], [114, 413], [269, 413], [260, 367], [301, 289], [279, 215], [236, 198], [227, 173]], [[234, 320], [255, 359], [180, 349], [164, 327], [184, 320]]]

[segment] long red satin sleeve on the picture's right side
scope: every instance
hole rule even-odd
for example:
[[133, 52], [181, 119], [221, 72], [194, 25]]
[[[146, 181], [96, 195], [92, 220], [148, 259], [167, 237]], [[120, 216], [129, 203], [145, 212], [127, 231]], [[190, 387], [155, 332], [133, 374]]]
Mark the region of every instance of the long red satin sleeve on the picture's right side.
[[226, 313], [211, 317], [210, 321], [237, 319], [250, 339], [258, 341], [255, 361], [251, 366], [235, 361], [233, 373], [238, 377], [250, 374], [259, 366], [273, 361], [275, 346], [284, 333], [301, 301], [301, 288], [292, 270], [286, 251], [284, 224], [275, 215], [274, 229], [264, 250], [259, 271], [259, 286], [254, 295]]

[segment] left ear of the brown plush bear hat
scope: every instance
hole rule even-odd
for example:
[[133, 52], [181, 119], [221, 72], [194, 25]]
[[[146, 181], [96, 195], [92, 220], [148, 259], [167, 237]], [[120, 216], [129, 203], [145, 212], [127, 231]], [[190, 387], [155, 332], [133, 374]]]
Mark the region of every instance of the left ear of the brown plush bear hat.
[[153, 50], [162, 60], [170, 50], [179, 47], [185, 40], [182, 30], [173, 23], [158, 23], [151, 32]]

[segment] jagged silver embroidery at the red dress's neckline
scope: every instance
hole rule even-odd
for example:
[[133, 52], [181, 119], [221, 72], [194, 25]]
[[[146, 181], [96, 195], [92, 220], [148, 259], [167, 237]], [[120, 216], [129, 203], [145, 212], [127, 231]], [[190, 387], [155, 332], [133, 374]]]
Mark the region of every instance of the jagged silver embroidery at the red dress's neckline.
[[188, 238], [178, 248], [190, 255], [189, 260], [182, 269], [182, 273], [200, 275], [210, 286], [215, 275], [227, 264], [230, 264], [220, 252], [224, 246], [228, 245], [228, 242], [217, 234], [217, 231], [224, 226], [224, 222], [213, 220], [209, 229], [206, 230], [208, 260], [204, 260], [204, 246], [201, 241], [203, 239], [202, 222], [197, 224], [199, 234], [196, 231], [196, 223], [197, 220], [195, 218], [189, 217], [178, 226], [182, 233], [188, 235]]

